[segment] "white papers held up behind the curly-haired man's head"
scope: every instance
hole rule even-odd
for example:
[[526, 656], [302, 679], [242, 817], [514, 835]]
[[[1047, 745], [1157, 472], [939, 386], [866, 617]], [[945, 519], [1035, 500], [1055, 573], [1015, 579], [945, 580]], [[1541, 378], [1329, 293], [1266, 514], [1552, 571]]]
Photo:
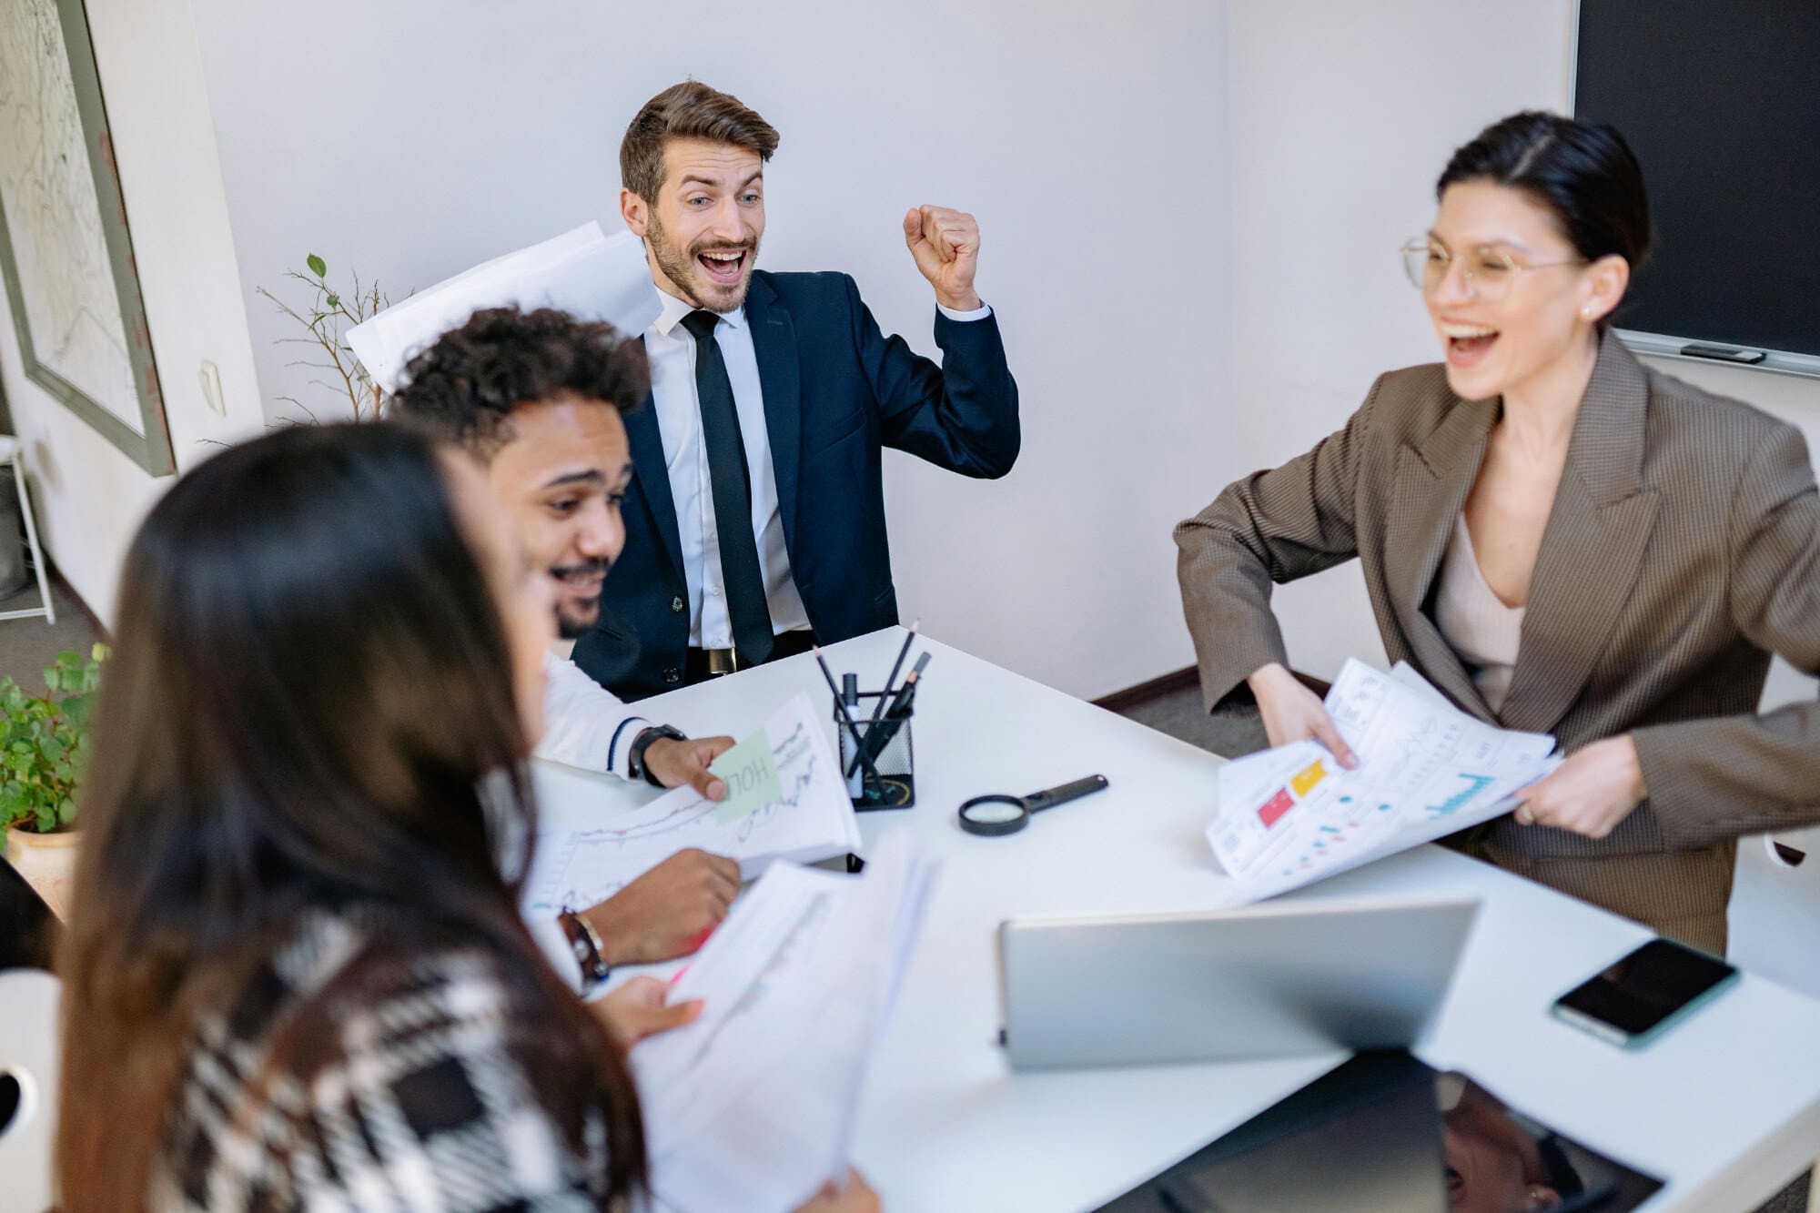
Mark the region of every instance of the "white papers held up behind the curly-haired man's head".
[[662, 311], [644, 242], [606, 235], [597, 220], [444, 279], [348, 330], [373, 381], [399, 390], [404, 364], [480, 308], [561, 308], [637, 337]]

